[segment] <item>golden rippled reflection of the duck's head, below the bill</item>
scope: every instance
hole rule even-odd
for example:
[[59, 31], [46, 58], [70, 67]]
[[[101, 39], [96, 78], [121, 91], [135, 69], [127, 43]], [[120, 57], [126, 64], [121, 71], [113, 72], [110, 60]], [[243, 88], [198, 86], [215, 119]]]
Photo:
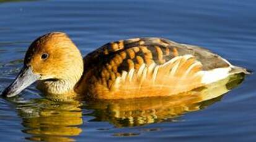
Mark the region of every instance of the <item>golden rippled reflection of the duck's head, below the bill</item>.
[[33, 103], [17, 107], [22, 132], [31, 134], [29, 140], [37, 141], [73, 141], [69, 136], [82, 132], [82, 109], [79, 102], [52, 102], [47, 99], [34, 99]]

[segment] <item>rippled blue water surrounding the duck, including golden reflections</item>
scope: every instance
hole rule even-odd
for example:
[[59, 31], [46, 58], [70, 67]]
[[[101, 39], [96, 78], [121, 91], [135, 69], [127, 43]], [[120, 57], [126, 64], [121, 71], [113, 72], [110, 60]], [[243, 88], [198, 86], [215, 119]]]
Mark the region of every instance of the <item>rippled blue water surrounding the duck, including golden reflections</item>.
[[[109, 41], [161, 36], [255, 70], [255, 12], [252, 0], [0, 1], [0, 90], [19, 72], [30, 42], [50, 31], [68, 33], [83, 55]], [[237, 86], [236, 79], [226, 85], [237, 86], [232, 91], [200, 103], [177, 98], [60, 103], [43, 99], [32, 85], [18, 98], [0, 98], [0, 136], [2, 141], [255, 141], [255, 80], [253, 74]], [[225, 83], [195, 93], [225, 93]]]

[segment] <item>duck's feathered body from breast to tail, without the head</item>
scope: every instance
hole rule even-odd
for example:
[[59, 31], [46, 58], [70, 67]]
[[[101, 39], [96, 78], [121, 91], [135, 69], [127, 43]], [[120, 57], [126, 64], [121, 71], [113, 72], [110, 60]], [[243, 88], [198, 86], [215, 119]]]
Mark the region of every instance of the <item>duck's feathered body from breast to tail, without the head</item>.
[[212, 52], [163, 38], [107, 43], [84, 57], [79, 91], [93, 98], [168, 96], [221, 80], [234, 67]]

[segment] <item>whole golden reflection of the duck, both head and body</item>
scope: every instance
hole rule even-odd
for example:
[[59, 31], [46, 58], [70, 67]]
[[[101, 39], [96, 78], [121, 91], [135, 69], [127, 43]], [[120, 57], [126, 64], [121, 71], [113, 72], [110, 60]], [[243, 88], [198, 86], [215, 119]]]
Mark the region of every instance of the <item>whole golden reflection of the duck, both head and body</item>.
[[[90, 100], [81, 102], [53, 102], [33, 99], [18, 103], [24, 130], [28, 140], [74, 141], [72, 136], [82, 132], [82, 117], [94, 116], [90, 121], [107, 121], [115, 127], [133, 127], [157, 123], [175, 118], [185, 112], [198, 111], [221, 99], [221, 95], [239, 85], [244, 75], [233, 75], [196, 90], [161, 98], [122, 100]], [[94, 112], [82, 116], [82, 109]]]

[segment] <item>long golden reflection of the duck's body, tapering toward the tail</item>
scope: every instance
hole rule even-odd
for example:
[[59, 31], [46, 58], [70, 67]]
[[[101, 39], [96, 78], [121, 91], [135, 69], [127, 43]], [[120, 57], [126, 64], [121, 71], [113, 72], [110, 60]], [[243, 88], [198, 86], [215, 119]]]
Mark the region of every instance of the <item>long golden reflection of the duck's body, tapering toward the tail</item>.
[[172, 121], [185, 112], [198, 111], [219, 101], [224, 93], [243, 80], [243, 74], [232, 75], [187, 93], [160, 98], [97, 100], [90, 102], [87, 108], [95, 110], [92, 121], [107, 121], [116, 127]]

